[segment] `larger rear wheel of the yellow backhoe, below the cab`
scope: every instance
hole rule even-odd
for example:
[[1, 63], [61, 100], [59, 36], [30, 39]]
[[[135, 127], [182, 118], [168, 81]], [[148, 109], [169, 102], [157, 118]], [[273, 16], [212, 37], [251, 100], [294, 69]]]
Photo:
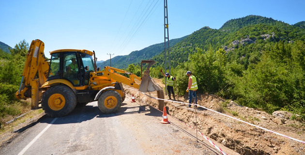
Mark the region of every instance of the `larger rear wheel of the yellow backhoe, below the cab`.
[[76, 107], [76, 94], [67, 86], [54, 86], [42, 96], [41, 106], [50, 117], [62, 117]]

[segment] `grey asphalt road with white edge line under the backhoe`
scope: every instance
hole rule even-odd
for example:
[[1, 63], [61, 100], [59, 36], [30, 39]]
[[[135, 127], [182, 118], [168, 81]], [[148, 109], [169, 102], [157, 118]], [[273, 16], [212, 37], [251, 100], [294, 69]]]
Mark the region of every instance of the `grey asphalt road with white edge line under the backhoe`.
[[126, 97], [114, 114], [103, 114], [92, 102], [65, 117], [45, 115], [0, 155], [222, 155], [199, 135], [197, 142], [194, 129], [171, 117], [161, 124], [162, 112], [130, 101]]

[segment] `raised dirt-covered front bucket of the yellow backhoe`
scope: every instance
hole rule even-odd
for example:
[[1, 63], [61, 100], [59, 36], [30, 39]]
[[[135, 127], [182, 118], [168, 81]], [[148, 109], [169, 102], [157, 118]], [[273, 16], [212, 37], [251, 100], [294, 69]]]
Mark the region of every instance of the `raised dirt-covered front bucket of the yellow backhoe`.
[[150, 68], [155, 63], [153, 60], [147, 60], [141, 62], [141, 72], [142, 72], [142, 63], [149, 63], [147, 69], [144, 71], [142, 80], [140, 83], [139, 91], [146, 93], [146, 92], [153, 92], [162, 90], [161, 87], [156, 84], [152, 78], [149, 76]]

